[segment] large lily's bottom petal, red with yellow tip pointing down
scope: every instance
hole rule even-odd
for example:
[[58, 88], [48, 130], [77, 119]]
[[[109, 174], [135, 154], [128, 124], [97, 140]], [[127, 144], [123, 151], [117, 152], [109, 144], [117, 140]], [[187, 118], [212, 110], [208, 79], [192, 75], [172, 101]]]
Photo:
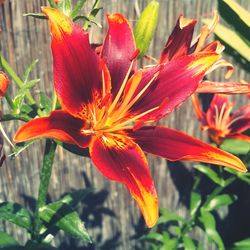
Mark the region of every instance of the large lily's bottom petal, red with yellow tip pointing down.
[[148, 227], [158, 219], [158, 199], [144, 153], [123, 135], [104, 135], [90, 146], [90, 155], [100, 172], [127, 186]]

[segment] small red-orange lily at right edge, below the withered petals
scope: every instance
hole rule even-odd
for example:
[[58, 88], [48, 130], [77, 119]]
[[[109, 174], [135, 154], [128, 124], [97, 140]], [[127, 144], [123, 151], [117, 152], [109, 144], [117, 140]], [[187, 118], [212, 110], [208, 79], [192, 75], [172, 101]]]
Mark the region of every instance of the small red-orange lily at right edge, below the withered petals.
[[197, 96], [193, 95], [195, 113], [201, 122], [202, 130], [208, 131], [210, 138], [220, 145], [226, 138], [250, 142], [250, 136], [242, 134], [250, 129], [250, 104], [231, 114], [234, 103], [228, 96], [214, 95], [206, 113], [200, 107]]

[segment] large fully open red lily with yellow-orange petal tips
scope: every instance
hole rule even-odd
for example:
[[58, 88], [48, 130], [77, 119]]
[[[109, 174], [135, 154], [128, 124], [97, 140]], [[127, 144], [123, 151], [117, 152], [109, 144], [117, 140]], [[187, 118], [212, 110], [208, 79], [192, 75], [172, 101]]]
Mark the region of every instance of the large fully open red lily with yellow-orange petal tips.
[[197, 53], [137, 70], [133, 32], [121, 14], [108, 15], [109, 29], [96, 54], [81, 27], [55, 9], [42, 11], [51, 26], [54, 84], [62, 110], [23, 125], [16, 142], [47, 137], [89, 147], [100, 172], [128, 188], [149, 227], [158, 218], [158, 199], [144, 152], [246, 171], [237, 157], [181, 132], [142, 127], [192, 95], [218, 54]]

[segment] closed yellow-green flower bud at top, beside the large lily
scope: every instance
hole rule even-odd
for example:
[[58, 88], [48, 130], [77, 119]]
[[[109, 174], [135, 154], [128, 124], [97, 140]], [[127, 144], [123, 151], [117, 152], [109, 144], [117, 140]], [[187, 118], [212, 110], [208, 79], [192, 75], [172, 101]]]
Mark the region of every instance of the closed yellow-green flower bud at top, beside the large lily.
[[140, 49], [140, 56], [144, 56], [148, 52], [149, 45], [153, 39], [159, 14], [158, 1], [151, 1], [143, 10], [136, 26], [135, 26], [135, 43]]

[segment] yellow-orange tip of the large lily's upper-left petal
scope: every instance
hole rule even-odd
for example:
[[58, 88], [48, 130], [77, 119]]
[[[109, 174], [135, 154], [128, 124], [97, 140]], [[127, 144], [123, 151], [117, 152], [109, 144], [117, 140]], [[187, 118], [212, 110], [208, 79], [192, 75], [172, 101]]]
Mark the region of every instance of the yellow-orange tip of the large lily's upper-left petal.
[[70, 35], [73, 32], [73, 22], [62, 12], [49, 7], [41, 7], [41, 10], [49, 19], [53, 38], [62, 40], [63, 34]]

